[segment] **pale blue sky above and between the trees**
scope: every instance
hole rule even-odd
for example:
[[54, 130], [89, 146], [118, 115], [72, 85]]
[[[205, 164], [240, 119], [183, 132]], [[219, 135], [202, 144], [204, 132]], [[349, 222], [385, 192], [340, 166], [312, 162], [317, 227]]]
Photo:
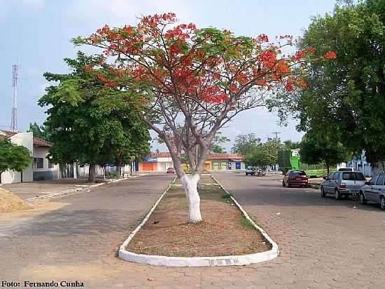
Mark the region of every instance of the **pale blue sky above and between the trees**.
[[[20, 65], [18, 129], [24, 131], [30, 122], [45, 120], [45, 109], [36, 104], [48, 85], [43, 72], [67, 72], [62, 58], [73, 57], [78, 49], [69, 39], [91, 34], [104, 24], [134, 25], [140, 15], [174, 12], [181, 22], [197, 27], [226, 28], [248, 36], [299, 36], [311, 17], [332, 11], [334, 5], [335, 0], [0, 0], [0, 129], [10, 126], [12, 65]], [[234, 140], [239, 133], [255, 133], [265, 140], [279, 131], [281, 140], [300, 140], [295, 123], [281, 128], [275, 114], [253, 109], [223, 128], [223, 135]]]

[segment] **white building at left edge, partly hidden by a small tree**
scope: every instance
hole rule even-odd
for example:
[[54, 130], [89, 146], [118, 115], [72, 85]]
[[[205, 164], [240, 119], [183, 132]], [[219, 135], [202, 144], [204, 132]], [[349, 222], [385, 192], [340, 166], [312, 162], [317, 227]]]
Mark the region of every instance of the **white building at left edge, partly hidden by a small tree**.
[[29, 150], [31, 166], [15, 172], [7, 170], [1, 174], [1, 183], [32, 182], [34, 180], [51, 180], [58, 177], [59, 166], [50, 163], [47, 155], [52, 144], [34, 137], [33, 133], [18, 133], [0, 130], [0, 137], [6, 137], [15, 145], [22, 145]]

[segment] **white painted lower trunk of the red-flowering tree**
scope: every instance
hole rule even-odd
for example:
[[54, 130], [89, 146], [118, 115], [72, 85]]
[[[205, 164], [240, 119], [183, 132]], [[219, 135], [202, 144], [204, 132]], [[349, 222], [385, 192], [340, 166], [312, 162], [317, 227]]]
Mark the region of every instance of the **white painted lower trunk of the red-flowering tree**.
[[202, 215], [200, 214], [200, 195], [197, 190], [200, 175], [183, 175], [180, 181], [185, 189], [188, 203], [188, 222], [197, 223], [202, 221]]

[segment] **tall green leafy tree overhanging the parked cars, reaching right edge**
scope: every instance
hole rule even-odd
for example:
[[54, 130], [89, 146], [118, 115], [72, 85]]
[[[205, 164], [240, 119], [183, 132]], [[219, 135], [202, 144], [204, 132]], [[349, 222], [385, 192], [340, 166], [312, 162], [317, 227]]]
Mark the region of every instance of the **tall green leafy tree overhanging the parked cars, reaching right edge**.
[[308, 88], [281, 95], [281, 116], [294, 112], [299, 130], [352, 152], [365, 149], [372, 163], [385, 160], [384, 0], [340, 1], [332, 14], [311, 21], [299, 46], [332, 50], [337, 58], [312, 63]]

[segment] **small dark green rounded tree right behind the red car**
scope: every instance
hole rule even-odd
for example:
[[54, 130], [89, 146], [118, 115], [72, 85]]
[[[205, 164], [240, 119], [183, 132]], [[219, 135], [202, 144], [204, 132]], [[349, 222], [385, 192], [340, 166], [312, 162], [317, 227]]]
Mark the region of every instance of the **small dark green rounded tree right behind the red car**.
[[325, 163], [328, 174], [331, 166], [337, 166], [351, 156], [340, 142], [330, 141], [328, 137], [319, 137], [311, 132], [304, 135], [300, 154], [303, 163]]

